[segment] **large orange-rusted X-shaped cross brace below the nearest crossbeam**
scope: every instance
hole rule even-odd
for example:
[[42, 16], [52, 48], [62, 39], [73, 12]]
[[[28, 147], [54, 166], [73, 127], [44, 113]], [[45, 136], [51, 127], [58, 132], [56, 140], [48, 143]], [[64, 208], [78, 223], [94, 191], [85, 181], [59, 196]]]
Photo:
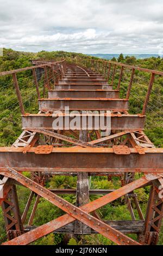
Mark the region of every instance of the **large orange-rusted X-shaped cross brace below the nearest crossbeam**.
[[[136, 180], [132, 183], [127, 184], [124, 187], [121, 187], [120, 189], [117, 189], [116, 193], [112, 192], [108, 195], [105, 195], [104, 197], [92, 201], [91, 203], [86, 204], [80, 207], [79, 209], [78, 207], [73, 206], [72, 204], [68, 203], [67, 201], [58, 197], [57, 195], [54, 195], [53, 193], [51, 195], [51, 192], [49, 192], [48, 189], [43, 188], [36, 182], [33, 182], [29, 178], [26, 178], [17, 171], [13, 169], [10, 169], [10, 171], [10, 175], [8, 174], [8, 172], [5, 172], [5, 175], [20, 181], [22, 184], [24, 184], [24, 186], [30, 188], [37, 194], [40, 194], [42, 197], [46, 198], [48, 201], [58, 206], [60, 209], [68, 212], [69, 215], [66, 214], [64, 216], [61, 216], [47, 224], [42, 225], [39, 228], [36, 228], [35, 230], [30, 231], [30, 235], [29, 233], [27, 233], [25, 235], [17, 237], [14, 240], [4, 243], [4, 245], [15, 245], [17, 243], [21, 245], [27, 245], [28, 243], [35, 241], [36, 239], [42, 237], [43, 235], [49, 234], [52, 231], [57, 230], [58, 228], [63, 227], [68, 223], [73, 222], [75, 219], [79, 219], [83, 223], [89, 225], [89, 227], [95, 229], [98, 233], [101, 233], [104, 236], [108, 237], [110, 240], [116, 242], [118, 245], [139, 245], [139, 243], [137, 243], [136, 241], [130, 239], [126, 235], [117, 231], [116, 229], [111, 228], [109, 225], [103, 223], [102, 221], [99, 221], [95, 217], [89, 215], [87, 212], [97, 210], [99, 207], [102, 207], [110, 203], [111, 201], [119, 197], [122, 197], [122, 195], [129, 193], [131, 190], [147, 184], [149, 181], [145, 177], [142, 177], [139, 180]], [[153, 177], [153, 179], [155, 178], [157, 177]]]

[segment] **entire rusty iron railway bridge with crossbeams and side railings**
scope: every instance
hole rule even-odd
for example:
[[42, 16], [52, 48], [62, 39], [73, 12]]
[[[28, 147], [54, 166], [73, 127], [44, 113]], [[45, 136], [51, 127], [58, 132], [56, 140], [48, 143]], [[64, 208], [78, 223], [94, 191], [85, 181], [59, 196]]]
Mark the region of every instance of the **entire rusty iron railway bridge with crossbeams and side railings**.
[[[12, 76], [23, 130], [11, 147], [0, 147], [0, 204], [8, 236], [3, 245], [28, 245], [54, 232], [99, 233], [117, 245], [156, 245], [163, 217], [163, 198], [159, 197], [160, 186], [163, 186], [163, 148], [156, 148], [143, 129], [155, 76], [163, 76], [163, 72], [90, 58], [67, 58], [56, 62], [34, 60], [32, 63], [32, 67], [0, 73], [0, 76]], [[117, 69], [120, 72], [115, 89]], [[39, 112], [35, 114], [24, 110], [18, 85], [17, 73], [27, 70], [32, 72], [37, 93]], [[126, 70], [130, 72], [130, 81], [126, 97], [122, 99], [120, 88]], [[151, 74], [151, 79], [142, 112], [131, 115], [129, 97], [136, 70]], [[44, 77], [43, 96], [39, 87], [41, 76]], [[67, 106], [68, 114], [65, 113]], [[82, 113], [78, 115], [80, 125], [76, 129], [67, 129], [66, 118], [71, 123], [72, 111], [77, 110]], [[106, 123], [107, 111], [110, 111], [111, 133], [102, 136], [96, 127], [96, 118], [103, 117]], [[53, 122], [58, 116], [62, 117], [63, 125], [55, 130]], [[30, 172], [31, 178], [24, 176], [23, 171]], [[135, 178], [135, 173], [140, 174], [139, 178]], [[47, 189], [45, 181], [53, 175], [77, 175], [77, 188]], [[90, 189], [89, 176], [93, 175], [108, 176], [108, 180], [117, 176], [122, 186], [110, 190]], [[16, 185], [30, 190], [22, 215]], [[134, 190], [146, 186], [151, 186], [151, 190], [146, 216], [143, 216]], [[76, 205], [68, 203], [60, 197], [61, 194], [76, 194]], [[103, 196], [90, 202], [90, 194]], [[34, 227], [33, 219], [41, 197], [59, 207], [65, 215]], [[101, 219], [96, 210], [121, 197], [125, 198], [131, 220]], [[35, 203], [27, 220], [33, 198]], [[133, 201], [139, 220], [134, 215]], [[28, 226], [24, 225], [27, 221]], [[136, 234], [137, 241], [127, 234]]]

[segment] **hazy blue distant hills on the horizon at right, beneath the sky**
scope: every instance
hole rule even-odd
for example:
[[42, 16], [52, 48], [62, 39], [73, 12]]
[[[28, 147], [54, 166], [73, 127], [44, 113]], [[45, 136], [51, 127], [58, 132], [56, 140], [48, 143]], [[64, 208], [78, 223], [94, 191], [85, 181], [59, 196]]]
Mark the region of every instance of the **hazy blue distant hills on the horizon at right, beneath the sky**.
[[[120, 55], [119, 54], [102, 54], [102, 53], [97, 53], [97, 54], [87, 54], [89, 56], [94, 56], [98, 58], [105, 58], [105, 59], [112, 59], [113, 57], [118, 58]], [[145, 58], [151, 58], [151, 57], [158, 57], [158, 54], [123, 54], [124, 57], [126, 56], [135, 56], [137, 59], [145, 59]]]

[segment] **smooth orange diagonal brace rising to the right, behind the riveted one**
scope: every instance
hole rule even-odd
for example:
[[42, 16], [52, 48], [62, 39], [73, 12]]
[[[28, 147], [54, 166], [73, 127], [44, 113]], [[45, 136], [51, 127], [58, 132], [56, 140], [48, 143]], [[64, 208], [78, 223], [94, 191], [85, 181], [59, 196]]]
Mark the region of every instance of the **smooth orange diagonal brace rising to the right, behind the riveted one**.
[[[153, 177], [153, 178], [155, 178], [155, 177]], [[102, 198], [99, 198], [95, 201], [92, 201], [91, 203], [89, 203], [87, 205], [82, 206], [81, 209], [83, 209], [87, 212], [95, 211], [95, 210], [99, 209], [100, 207], [111, 203], [111, 201], [114, 201], [114, 200], [122, 197], [123, 195], [129, 193], [131, 190], [139, 188], [147, 183], [148, 183], [148, 180], [145, 177], [142, 177], [139, 180], [131, 182], [130, 184], [127, 184], [126, 186], [123, 186], [123, 187], [117, 189], [116, 193], [112, 192], [108, 195], [105, 195]], [[57, 229], [63, 227], [64, 225], [71, 223], [73, 221], [74, 221], [74, 218], [71, 217], [70, 215], [66, 214], [57, 219], [54, 219], [51, 222], [48, 222], [47, 224], [42, 225], [39, 228], [36, 228], [35, 230], [32, 230], [24, 235], [21, 235], [20, 237], [17, 237], [16, 239], [14, 239], [12, 241], [5, 242], [5, 243], [3, 243], [3, 245], [16, 245], [16, 244], [27, 245], [27, 244], [39, 239], [40, 237], [47, 235], [49, 233], [52, 233], [54, 230], [57, 230]]]

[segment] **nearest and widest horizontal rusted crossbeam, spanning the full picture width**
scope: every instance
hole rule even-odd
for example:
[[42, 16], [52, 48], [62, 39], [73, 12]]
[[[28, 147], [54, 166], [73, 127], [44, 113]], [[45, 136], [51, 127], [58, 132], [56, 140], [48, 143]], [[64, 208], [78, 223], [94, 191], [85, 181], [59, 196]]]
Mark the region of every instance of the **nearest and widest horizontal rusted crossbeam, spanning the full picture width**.
[[[53, 148], [43, 156], [37, 147], [0, 147], [0, 172], [8, 166], [19, 171], [162, 172], [163, 149], [128, 148], [130, 154], [116, 154], [113, 148]], [[126, 150], [124, 150], [126, 153]], [[43, 157], [42, 157], [43, 156]]]

